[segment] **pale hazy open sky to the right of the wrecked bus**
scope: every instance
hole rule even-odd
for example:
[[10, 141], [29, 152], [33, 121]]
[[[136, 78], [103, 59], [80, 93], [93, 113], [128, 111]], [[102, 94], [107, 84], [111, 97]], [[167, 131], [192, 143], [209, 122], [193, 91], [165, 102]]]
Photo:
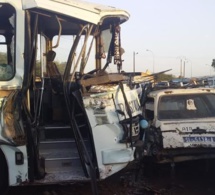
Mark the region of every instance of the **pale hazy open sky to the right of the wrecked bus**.
[[[215, 75], [214, 0], [87, 0], [130, 14], [121, 25], [123, 70]], [[147, 51], [148, 50], [148, 51]], [[185, 69], [184, 69], [185, 67]], [[182, 68], [182, 71], [181, 71]]]

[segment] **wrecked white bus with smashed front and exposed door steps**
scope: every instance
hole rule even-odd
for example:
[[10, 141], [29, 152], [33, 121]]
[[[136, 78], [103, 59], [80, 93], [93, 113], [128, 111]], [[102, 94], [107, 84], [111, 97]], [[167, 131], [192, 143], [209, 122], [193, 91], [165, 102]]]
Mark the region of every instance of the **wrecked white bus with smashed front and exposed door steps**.
[[134, 160], [141, 110], [120, 74], [128, 18], [76, 0], [0, 0], [1, 192], [89, 180], [96, 194]]

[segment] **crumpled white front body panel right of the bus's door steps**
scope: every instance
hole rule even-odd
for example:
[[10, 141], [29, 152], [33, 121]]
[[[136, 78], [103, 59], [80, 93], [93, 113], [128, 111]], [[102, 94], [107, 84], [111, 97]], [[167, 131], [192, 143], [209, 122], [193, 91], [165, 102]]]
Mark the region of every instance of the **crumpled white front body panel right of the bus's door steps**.
[[[126, 86], [124, 89], [128, 101], [137, 101], [139, 105], [137, 91], [130, 90]], [[114, 98], [112, 98], [112, 94]], [[96, 120], [98, 114], [94, 114], [94, 110], [99, 109], [101, 102], [104, 102], [105, 108], [102, 110], [109, 121], [108, 124], [98, 124]], [[135, 148], [132, 150], [129, 143], [120, 143], [124, 131], [119, 120], [124, 120], [125, 117], [116, 113], [116, 109], [119, 109], [117, 106], [119, 103], [125, 107], [122, 93], [118, 91], [118, 87], [109, 93], [98, 93], [84, 98], [84, 105], [93, 131], [100, 178], [102, 179], [123, 169], [134, 159]], [[125, 114], [128, 117], [126, 111]], [[140, 109], [132, 112], [133, 117], [139, 114], [141, 114]]]

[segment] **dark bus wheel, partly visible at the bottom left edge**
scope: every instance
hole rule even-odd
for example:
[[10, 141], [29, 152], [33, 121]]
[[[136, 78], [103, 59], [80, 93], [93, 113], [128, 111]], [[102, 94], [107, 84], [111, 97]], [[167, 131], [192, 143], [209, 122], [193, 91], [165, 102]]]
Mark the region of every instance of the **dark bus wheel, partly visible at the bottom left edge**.
[[7, 163], [3, 152], [0, 150], [0, 194], [5, 194], [8, 188]]

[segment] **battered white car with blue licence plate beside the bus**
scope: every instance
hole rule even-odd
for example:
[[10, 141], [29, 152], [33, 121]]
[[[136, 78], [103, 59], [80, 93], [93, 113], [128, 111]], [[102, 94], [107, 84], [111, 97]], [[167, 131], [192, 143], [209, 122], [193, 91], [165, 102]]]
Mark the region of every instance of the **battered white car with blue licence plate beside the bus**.
[[162, 89], [143, 104], [144, 150], [156, 162], [215, 158], [215, 90]]

